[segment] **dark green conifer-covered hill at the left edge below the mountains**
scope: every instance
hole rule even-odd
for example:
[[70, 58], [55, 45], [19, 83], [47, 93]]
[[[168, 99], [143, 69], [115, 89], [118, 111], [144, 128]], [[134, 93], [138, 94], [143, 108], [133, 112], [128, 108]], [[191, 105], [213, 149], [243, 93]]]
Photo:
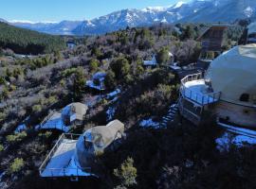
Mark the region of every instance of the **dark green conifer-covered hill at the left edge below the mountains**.
[[9, 26], [9, 24], [0, 22], [0, 47], [10, 48], [15, 53], [44, 54], [61, 50], [64, 46], [64, 40], [59, 36]]

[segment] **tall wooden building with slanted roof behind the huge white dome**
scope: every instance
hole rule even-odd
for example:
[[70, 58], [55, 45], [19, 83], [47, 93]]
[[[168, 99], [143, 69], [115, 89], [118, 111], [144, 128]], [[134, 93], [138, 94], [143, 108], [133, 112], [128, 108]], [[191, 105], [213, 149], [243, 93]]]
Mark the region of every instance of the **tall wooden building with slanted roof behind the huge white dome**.
[[197, 39], [202, 45], [198, 64], [201, 64], [205, 69], [208, 68], [211, 60], [214, 60], [222, 53], [224, 34], [227, 29], [228, 26], [213, 25], [206, 29]]

